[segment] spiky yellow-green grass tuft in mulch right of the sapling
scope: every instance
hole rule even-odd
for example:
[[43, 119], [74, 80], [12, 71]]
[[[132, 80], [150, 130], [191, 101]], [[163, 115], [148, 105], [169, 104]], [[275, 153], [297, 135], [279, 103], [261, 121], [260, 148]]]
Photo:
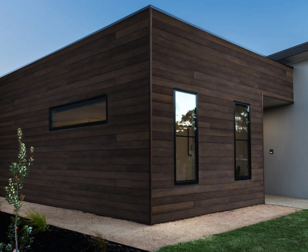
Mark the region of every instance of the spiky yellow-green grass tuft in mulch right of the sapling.
[[27, 212], [26, 218], [27, 220], [25, 220], [25, 223], [32, 227], [33, 234], [45, 232], [49, 229], [46, 214], [44, 212], [38, 212], [33, 209], [32, 211]]

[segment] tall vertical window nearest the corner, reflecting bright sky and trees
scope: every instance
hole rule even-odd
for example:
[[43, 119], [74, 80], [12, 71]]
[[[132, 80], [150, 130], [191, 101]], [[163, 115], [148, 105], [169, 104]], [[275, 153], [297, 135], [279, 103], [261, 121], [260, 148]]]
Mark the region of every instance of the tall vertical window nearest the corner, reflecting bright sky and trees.
[[198, 97], [174, 91], [175, 184], [198, 183]]

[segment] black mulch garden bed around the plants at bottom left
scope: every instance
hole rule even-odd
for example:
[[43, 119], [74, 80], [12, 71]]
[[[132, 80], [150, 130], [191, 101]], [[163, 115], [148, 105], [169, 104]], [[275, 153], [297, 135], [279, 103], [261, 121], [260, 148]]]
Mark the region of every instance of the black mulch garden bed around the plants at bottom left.
[[[11, 215], [0, 212], [0, 243], [7, 242], [6, 232]], [[94, 252], [93, 237], [55, 226], [34, 236], [29, 252]], [[146, 252], [107, 241], [108, 252]]]

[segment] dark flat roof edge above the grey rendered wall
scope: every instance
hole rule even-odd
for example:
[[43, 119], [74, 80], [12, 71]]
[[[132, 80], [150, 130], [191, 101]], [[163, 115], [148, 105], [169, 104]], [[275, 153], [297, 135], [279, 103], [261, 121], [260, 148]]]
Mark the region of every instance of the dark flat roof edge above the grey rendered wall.
[[267, 57], [283, 64], [292, 64], [308, 59], [308, 42], [273, 53]]

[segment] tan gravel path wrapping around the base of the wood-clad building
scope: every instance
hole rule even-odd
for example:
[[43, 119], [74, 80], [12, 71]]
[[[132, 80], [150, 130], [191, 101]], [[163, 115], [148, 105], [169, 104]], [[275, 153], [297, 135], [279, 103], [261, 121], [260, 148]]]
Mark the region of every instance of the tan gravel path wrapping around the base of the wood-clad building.
[[[3, 206], [2, 211], [12, 213], [12, 207], [4, 201], [4, 198], [0, 197], [0, 203]], [[291, 207], [258, 205], [148, 226], [29, 202], [24, 202], [22, 215], [33, 208], [45, 212], [51, 225], [87, 235], [99, 231], [109, 241], [149, 251], [271, 220], [299, 210]]]

